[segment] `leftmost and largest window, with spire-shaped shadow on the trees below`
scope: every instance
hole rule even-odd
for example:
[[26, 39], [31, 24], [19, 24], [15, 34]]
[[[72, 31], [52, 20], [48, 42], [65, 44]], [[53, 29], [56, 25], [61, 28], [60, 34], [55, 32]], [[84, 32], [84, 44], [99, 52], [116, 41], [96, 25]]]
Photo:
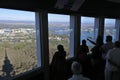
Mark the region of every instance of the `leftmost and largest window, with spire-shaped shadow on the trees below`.
[[0, 9], [0, 80], [36, 67], [35, 13]]

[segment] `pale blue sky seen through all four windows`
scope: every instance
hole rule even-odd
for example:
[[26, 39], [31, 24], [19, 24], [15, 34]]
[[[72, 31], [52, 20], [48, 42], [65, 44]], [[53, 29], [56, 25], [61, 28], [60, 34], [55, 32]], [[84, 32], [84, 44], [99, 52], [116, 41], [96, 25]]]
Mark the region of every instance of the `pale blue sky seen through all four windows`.
[[[69, 15], [48, 14], [48, 21], [69, 22]], [[16, 20], [16, 21], [35, 21], [35, 12], [20, 11], [0, 8], [0, 20]], [[82, 17], [82, 22], [94, 22], [93, 17]], [[114, 22], [114, 19], [105, 19], [105, 22]]]

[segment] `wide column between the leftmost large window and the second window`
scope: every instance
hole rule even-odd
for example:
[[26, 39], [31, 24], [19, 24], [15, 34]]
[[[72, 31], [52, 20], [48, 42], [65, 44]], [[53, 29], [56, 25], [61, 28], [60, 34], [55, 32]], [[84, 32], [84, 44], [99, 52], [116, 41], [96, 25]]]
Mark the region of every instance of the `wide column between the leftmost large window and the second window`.
[[38, 66], [44, 68], [45, 80], [49, 80], [48, 13], [46, 11], [36, 12], [36, 35]]

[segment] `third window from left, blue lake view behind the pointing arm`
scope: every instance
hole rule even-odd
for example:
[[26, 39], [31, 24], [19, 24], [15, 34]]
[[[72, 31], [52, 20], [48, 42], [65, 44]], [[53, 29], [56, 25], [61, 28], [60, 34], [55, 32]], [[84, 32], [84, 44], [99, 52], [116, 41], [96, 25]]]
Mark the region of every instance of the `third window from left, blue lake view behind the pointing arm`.
[[[85, 39], [94, 40], [94, 18], [93, 17], [81, 17], [81, 41]], [[87, 41], [89, 48], [92, 48], [94, 45]]]

